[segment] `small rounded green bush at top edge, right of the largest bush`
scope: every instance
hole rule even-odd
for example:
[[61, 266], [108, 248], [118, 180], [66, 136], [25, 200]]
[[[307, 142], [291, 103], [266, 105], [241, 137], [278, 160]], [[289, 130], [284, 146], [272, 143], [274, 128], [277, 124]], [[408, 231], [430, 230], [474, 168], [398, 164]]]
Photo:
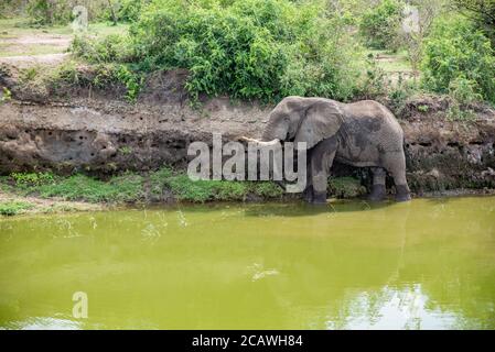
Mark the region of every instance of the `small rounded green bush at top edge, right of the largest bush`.
[[399, 47], [403, 7], [400, 0], [383, 0], [363, 14], [359, 33], [367, 46], [391, 51]]

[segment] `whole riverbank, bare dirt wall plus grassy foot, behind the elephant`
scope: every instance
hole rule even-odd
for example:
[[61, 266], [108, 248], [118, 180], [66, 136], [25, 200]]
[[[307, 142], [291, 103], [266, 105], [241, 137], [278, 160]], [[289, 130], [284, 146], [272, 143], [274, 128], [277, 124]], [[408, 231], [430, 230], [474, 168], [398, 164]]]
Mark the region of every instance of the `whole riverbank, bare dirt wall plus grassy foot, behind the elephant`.
[[[259, 138], [272, 106], [227, 97], [200, 97], [194, 105], [184, 88], [185, 70], [147, 77], [129, 102], [121, 84], [105, 80], [111, 73], [104, 68], [71, 61], [50, 69], [1, 66], [2, 193], [98, 205], [288, 197], [271, 183], [192, 183], [185, 175], [190, 143], [212, 146], [213, 133], [222, 134], [224, 144], [239, 135]], [[473, 106], [472, 117], [461, 121], [449, 116], [448, 97], [410, 97], [400, 107], [381, 102], [405, 131], [407, 177], [416, 197], [495, 189], [493, 108]], [[49, 178], [30, 184], [40, 175]], [[335, 163], [332, 175], [332, 197], [361, 197], [369, 190], [367, 168]], [[390, 189], [391, 179], [387, 183]], [[30, 211], [19, 207], [19, 212]]]

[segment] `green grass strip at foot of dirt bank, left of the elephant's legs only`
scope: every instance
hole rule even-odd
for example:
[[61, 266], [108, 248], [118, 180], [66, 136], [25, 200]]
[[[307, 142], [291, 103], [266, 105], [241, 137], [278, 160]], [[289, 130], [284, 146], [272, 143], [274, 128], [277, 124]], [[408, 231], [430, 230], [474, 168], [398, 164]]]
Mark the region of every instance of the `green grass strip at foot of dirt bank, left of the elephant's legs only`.
[[198, 180], [168, 167], [148, 174], [126, 173], [107, 180], [84, 174], [13, 173], [0, 178], [2, 191], [22, 197], [58, 198], [86, 202], [129, 204], [151, 201], [245, 201], [279, 199], [278, 185], [252, 182]]

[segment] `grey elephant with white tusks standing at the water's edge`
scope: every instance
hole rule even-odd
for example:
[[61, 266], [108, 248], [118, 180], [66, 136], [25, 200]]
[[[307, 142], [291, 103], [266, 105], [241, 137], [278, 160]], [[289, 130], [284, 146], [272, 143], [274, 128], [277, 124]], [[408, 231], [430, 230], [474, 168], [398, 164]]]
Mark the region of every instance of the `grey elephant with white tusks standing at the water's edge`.
[[387, 172], [394, 178], [396, 200], [411, 199], [402, 129], [390, 110], [377, 101], [343, 103], [325, 98], [287, 97], [271, 111], [261, 140], [243, 140], [260, 146], [305, 142], [304, 198], [309, 202], [326, 202], [327, 175], [334, 161], [372, 168], [369, 200], [380, 201], [386, 197]]

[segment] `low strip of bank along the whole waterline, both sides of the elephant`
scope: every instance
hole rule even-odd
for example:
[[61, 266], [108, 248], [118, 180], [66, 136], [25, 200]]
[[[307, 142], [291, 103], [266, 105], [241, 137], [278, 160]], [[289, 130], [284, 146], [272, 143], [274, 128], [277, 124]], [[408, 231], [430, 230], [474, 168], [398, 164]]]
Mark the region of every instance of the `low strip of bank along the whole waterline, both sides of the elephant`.
[[[359, 179], [332, 177], [329, 179], [331, 201], [363, 199], [367, 189]], [[390, 199], [392, 190], [389, 189]], [[489, 196], [495, 189], [428, 191], [415, 198]], [[104, 211], [126, 207], [152, 207], [175, 204], [261, 204], [297, 201], [301, 195], [286, 194], [270, 182], [191, 182], [181, 172], [163, 167], [152, 173], [126, 173], [97, 179], [84, 174], [57, 176], [50, 173], [19, 173], [0, 177], [0, 219], [12, 216]]]

